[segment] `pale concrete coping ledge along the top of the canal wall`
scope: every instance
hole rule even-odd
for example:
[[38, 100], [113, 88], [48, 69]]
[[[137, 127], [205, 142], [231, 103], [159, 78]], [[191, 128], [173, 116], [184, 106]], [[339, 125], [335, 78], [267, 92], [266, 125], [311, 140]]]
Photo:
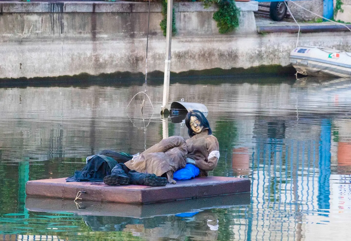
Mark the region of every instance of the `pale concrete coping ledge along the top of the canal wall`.
[[[236, 2], [240, 10], [257, 11], [258, 2]], [[175, 12], [216, 12], [217, 7], [204, 8], [201, 2], [176, 2]], [[2, 13], [132, 13], [148, 12], [147, 2], [0, 2]], [[160, 3], [151, 3], [150, 12], [161, 12]], [[0, 11], [1, 12], [1, 11]]]

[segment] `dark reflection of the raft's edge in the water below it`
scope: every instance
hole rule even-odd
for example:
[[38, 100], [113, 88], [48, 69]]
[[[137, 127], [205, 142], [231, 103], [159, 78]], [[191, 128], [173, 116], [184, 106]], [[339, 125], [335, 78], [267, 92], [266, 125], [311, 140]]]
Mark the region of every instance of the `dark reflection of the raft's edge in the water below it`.
[[75, 213], [79, 215], [149, 218], [180, 213], [195, 213], [210, 208], [230, 208], [250, 204], [250, 193], [221, 195], [208, 198], [186, 199], [171, 202], [134, 204], [26, 197], [26, 208], [33, 212]]

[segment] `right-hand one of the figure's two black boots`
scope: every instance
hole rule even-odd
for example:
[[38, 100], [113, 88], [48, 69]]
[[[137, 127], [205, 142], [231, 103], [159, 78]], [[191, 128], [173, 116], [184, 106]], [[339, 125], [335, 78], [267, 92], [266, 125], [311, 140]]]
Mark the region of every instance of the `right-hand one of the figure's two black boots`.
[[140, 173], [135, 170], [128, 172], [131, 179], [131, 184], [146, 185], [151, 187], [161, 187], [167, 185], [167, 178], [160, 178], [155, 174]]

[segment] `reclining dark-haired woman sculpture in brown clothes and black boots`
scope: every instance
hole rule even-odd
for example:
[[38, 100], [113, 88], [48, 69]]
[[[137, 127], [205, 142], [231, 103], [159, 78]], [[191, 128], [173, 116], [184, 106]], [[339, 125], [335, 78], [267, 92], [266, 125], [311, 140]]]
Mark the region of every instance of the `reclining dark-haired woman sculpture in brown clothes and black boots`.
[[188, 112], [185, 124], [190, 139], [185, 141], [181, 136], [171, 136], [161, 140], [132, 160], [118, 163], [111, 175], [105, 176], [104, 183], [165, 186], [167, 182], [176, 183], [173, 174], [181, 174], [178, 180], [207, 176], [219, 159], [217, 138], [200, 111]]

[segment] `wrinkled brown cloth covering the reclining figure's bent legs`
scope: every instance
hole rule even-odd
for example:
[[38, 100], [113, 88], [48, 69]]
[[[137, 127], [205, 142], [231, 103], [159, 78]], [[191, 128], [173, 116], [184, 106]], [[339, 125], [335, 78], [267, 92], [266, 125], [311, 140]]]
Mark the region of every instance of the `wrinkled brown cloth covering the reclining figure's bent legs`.
[[181, 136], [171, 136], [145, 150], [133, 160], [124, 163], [129, 169], [141, 173], [161, 176], [166, 173], [168, 182], [173, 180], [173, 173], [186, 165], [186, 142]]

